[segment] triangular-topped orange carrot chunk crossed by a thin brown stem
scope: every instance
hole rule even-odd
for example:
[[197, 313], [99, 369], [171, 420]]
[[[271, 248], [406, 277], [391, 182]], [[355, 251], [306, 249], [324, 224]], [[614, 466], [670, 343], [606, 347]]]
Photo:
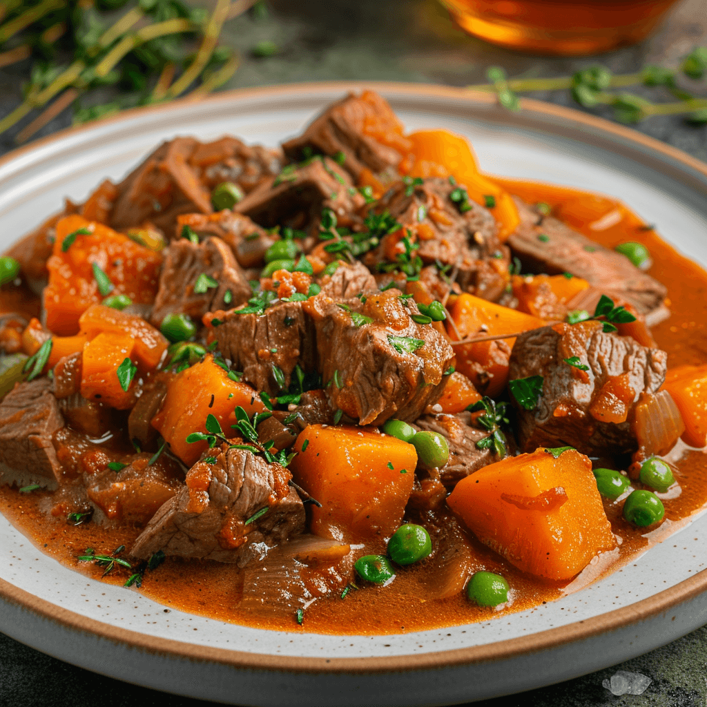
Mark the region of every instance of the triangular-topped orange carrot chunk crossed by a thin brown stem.
[[[486, 334], [515, 334], [545, 326], [542, 319], [467, 293], [458, 296], [452, 304], [448, 303], [448, 307], [462, 339]], [[455, 327], [449, 322], [447, 333], [452, 341], [460, 341]], [[508, 382], [508, 358], [515, 338], [502, 341], [506, 346], [499, 346], [497, 341], [481, 341], [454, 347], [457, 370], [470, 378], [481, 394], [490, 397], [496, 397]]]

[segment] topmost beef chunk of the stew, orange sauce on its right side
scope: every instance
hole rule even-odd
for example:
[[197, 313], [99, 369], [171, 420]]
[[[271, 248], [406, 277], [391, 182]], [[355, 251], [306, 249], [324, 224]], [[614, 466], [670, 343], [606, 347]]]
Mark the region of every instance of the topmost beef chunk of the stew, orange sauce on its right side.
[[390, 105], [378, 93], [366, 90], [327, 107], [302, 135], [282, 148], [292, 160], [312, 153], [329, 157], [341, 153], [344, 167], [358, 180], [365, 169], [374, 174], [395, 170], [411, 151], [411, 143]]

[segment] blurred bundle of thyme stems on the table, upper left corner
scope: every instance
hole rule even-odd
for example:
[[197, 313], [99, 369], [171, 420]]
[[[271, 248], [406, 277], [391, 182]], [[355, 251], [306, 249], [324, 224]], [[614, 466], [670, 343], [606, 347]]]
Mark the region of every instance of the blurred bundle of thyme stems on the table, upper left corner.
[[[266, 12], [263, 0], [215, 0], [210, 11], [182, 0], [5, 0], [0, 67], [32, 64], [23, 101], [0, 120], [0, 133], [42, 109], [16, 141], [69, 107], [76, 124], [210, 93], [238, 69], [238, 55], [219, 45], [223, 24], [250, 8], [254, 19]], [[107, 88], [115, 97], [105, 102]]]

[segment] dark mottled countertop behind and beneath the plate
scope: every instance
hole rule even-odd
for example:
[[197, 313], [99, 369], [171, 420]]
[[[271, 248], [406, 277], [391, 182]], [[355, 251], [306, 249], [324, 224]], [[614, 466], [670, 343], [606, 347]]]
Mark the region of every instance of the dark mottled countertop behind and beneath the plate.
[[[601, 62], [615, 73], [646, 63], [677, 66], [695, 45], [707, 45], [707, 3], [685, 0], [649, 40], [592, 59], [531, 57], [487, 45], [460, 32], [435, 0], [274, 0], [267, 21], [238, 18], [227, 25], [228, 40], [243, 64], [226, 88], [298, 81], [368, 79], [467, 86], [484, 83], [486, 68], [499, 65], [509, 76], [566, 76]], [[271, 40], [281, 51], [255, 59], [250, 49]], [[18, 103], [16, 86], [28, 66], [0, 71], [0, 115]], [[640, 93], [641, 89], [636, 90]], [[565, 92], [539, 92], [533, 98], [572, 105]], [[599, 112], [602, 115], [602, 111]], [[608, 111], [607, 111], [608, 115]], [[62, 115], [37, 134], [70, 124]], [[23, 124], [18, 126], [18, 129]], [[638, 130], [707, 160], [707, 126], [691, 127], [680, 117], [653, 117]], [[0, 136], [0, 154], [14, 147], [16, 130]], [[640, 696], [614, 696], [604, 680], [626, 670], [651, 679]], [[607, 670], [508, 698], [477, 703], [487, 707], [703, 707], [707, 701], [707, 626], [684, 638]], [[30, 707], [100, 704], [152, 707], [165, 695], [96, 675], [39, 653], [0, 634], [0, 705]], [[172, 707], [196, 707], [197, 700], [167, 697]]]

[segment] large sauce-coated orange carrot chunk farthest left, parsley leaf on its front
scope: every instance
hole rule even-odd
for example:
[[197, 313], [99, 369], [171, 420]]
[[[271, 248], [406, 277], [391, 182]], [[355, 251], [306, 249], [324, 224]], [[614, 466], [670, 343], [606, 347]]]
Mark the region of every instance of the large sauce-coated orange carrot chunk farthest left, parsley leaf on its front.
[[[66, 237], [81, 228], [90, 233], [76, 235], [73, 243], [70, 240], [67, 243]], [[93, 264], [100, 267], [112, 283], [112, 294], [127, 295], [134, 303], [153, 302], [161, 260], [158, 253], [112, 228], [82, 216], [62, 218], [56, 227], [54, 251], [47, 260], [49, 284], [43, 296], [47, 328], [62, 336], [76, 334], [78, 318], [103, 298], [98, 291]]]

